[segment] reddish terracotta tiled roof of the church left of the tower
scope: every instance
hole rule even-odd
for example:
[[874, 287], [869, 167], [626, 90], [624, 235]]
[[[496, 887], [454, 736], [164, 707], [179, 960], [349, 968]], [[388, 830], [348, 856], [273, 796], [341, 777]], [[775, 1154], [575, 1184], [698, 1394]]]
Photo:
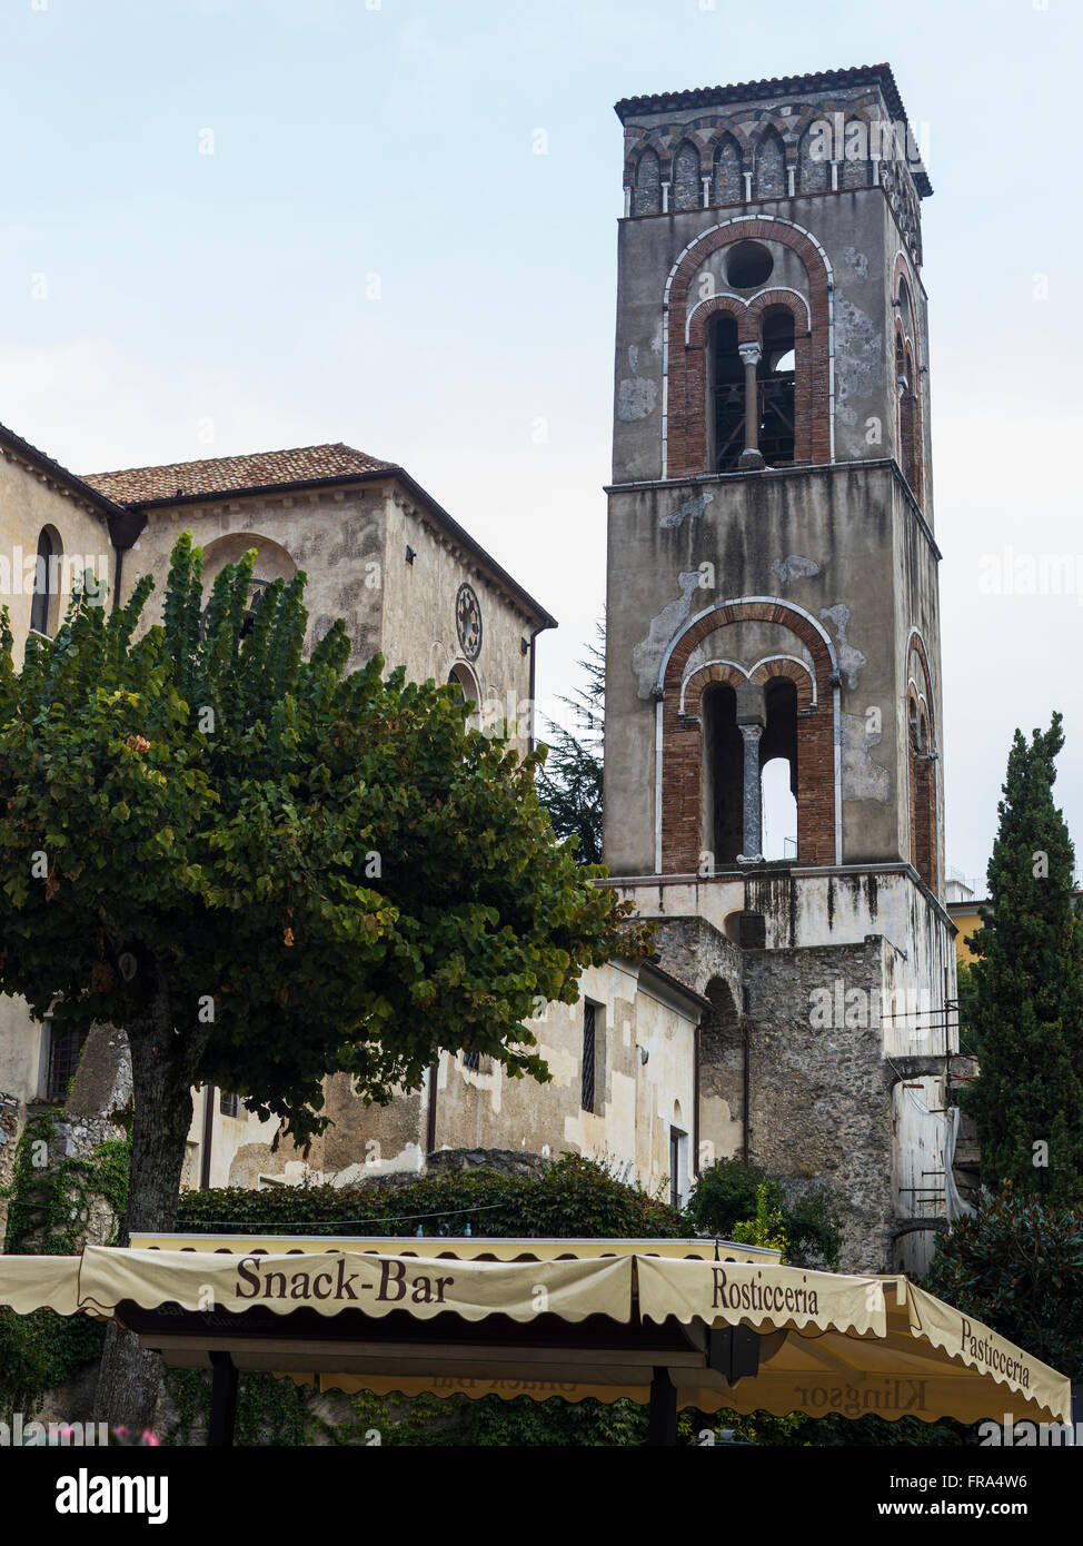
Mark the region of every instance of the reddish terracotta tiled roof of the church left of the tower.
[[255, 451], [252, 456], [216, 456], [207, 462], [170, 462], [165, 467], [128, 467], [114, 473], [87, 473], [83, 482], [117, 504], [151, 504], [158, 499], [239, 493], [246, 489], [281, 489], [289, 484], [323, 482], [396, 467], [352, 445], [300, 445], [289, 451]]

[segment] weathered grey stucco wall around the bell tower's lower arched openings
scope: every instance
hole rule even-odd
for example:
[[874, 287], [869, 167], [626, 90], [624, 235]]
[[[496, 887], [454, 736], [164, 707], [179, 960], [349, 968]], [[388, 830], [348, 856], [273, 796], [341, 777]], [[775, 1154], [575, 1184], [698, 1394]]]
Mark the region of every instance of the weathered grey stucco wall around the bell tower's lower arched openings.
[[[613, 490], [607, 595], [606, 858], [613, 873], [657, 867], [655, 691], [671, 646], [714, 608], [765, 597], [793, 617], [805, 614], [834, 649], [839, 722], [825, 734], [839, 744], [844, 863], [910, 860], [907, 649], [918, 629], [935, 662], [939, 713], [936, 553], [890, 465]], [[711, 659], [752, 671], [776, 654], [810, 663], [789, 623], [726, 623], [697, 645], [683, 679]], [[823, 683], [819, 696], [816, 713], [833, 720]], [[666, 741], [663, 758], [669, 750]], [[799, 758], [797, 778], [808, 776]], [[816, 776], [834, 784], [830, 765]]]

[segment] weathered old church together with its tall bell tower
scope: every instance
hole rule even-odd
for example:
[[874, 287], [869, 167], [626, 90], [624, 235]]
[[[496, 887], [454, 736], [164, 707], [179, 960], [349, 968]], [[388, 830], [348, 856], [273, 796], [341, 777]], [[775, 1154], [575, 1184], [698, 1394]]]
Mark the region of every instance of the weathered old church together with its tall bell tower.
[[[199, 1090], [185, 1186], [420, 1170], [442, 1149], [573, 1150], [686, 1200], [726, 1156], [845, 1201], [844, 1268], [921, 1271], [961, 1203], [944, 906], [939, 592], [921, 199], [887, 65], [632, 97], [618, 224], [606, 863], [652, 962], [531, 1022], [553, 1079], [442, 1054], [366, 1108], [328, 1081], [303, 1152]], [[190, 529], [204, 577], [304, 569], [309, 646], [456, 682], [533, 736], [550, 614], [397, 464], [348, 445], [74, 478], [0, 431], [11, 550], [124, 601]], [[14, 512], [14, 513], [12, 513]], [[28, 597], [54, 632], [60, 592]], [[502, 708], [501, 705], [507, 705]], [[23, 1023], [19, 1022], [20, 1013]], [[0, 1010], [0, 1133], [76, 1070], [124, 1099], [117, 1033], [57, 1048]], [[6, 1102], [6, 1104], [5, 1104]], [[6, 1115], [5, 1115], [6, 1113]], [[22, 1115], [20, 1115], [22, 1113]], [[96, 1129], [97, 1130], [97, 1129]], [[0, 1184], [3, 1166], [0, 1150]]]

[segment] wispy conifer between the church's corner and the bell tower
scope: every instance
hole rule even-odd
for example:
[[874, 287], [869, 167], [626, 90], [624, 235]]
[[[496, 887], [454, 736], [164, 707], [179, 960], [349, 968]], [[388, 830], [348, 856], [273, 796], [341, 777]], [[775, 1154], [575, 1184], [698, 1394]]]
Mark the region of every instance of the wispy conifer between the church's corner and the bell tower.
[[603, 739], [606, 727], [606, 623], [596, 625], [596, 643], [587, 645], [579, 666], [584, 686], [558, 702], [572, 710], [573, 730], [550, 719], [548, 756], [538, 792], [559, 838], [576, 838], [584, 864], [601, 864], [603, 850]]

